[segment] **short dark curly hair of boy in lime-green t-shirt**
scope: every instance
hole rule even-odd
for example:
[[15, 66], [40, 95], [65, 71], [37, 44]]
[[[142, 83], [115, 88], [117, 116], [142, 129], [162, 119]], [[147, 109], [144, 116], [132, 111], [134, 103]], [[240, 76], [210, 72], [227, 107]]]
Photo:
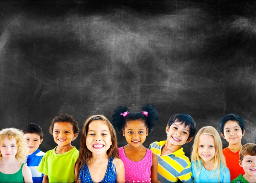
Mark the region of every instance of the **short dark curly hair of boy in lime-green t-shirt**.
[[73, 125], [73, 131], [74, 134], [79, 133], [79, 124], [75, 117], [71, 116], [70, 114], [57, 114], [55, 117], [53, 117], [53, 120], [49, 127], [49, 133], [53, 134], [53, 126], [56, 122], [70, 122]]

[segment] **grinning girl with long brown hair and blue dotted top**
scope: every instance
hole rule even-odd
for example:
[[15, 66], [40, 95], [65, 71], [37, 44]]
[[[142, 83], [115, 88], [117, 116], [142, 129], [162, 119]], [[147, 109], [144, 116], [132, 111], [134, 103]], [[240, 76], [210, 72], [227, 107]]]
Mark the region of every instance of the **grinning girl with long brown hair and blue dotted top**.
[[118, 157], [116, 132], [103, 115], [87, 118], [81, 130], [76, 182], [124, 182], [125, 169]]

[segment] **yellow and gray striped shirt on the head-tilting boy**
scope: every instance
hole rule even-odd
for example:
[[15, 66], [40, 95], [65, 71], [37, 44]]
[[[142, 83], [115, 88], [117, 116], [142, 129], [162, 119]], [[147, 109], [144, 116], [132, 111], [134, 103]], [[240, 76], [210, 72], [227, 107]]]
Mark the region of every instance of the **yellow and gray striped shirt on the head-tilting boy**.
[[160, 142], [153, 142], [148, 149], [157, 155], [158, 166], [157, 175], [159, 182], [177, 182], [183, 183], [192, 182], [191, 163], [189, 158], [185, 156], [183, 148], [171, 154], [164, 154], [161, 156], [162, 147], [166, 140]]

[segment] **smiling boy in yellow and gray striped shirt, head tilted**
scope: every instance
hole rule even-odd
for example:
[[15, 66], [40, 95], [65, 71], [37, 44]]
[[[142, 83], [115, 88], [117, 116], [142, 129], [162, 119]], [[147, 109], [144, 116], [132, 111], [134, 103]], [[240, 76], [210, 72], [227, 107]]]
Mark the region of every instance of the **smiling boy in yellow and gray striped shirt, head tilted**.
[[159, 182], [192, 182], [191, 163], [183, 148], [195, 135], [195, 120], [188, 114], [175, 114], [166, 126], [167, 139], [153, 142], [148, 149], [157, 155]]

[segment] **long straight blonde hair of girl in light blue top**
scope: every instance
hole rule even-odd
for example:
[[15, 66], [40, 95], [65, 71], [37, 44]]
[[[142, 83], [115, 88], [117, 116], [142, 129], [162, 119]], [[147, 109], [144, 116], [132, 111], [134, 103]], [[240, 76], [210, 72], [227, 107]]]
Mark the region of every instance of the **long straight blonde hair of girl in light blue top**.
[[[214, 138], [214, 146], [215, 146], [215, 155], [214, 155], [214, 166], [213, 166], [213, 172], [210, 178], [215, 177], [216, 176], [216, 170], [219, 169], [218, 171], [218, 181], [220, 179], [220, 169], [221, 169], [221, 163], [223, 165], [223, 169], [226, 166], [226, 160], [225, 157], [223, 155], [222, 152], [222, 142], [221, 142], [221, 137], [218, 134], [217, 130], [215, 128], [213, 128], [212, 126], [204, 126], [203, 128], [201, 128], [198, 133], [195, 136], [195, 140], [194, 140], [194, 144], [192, 146], [192, 154], [191, 154], [191, 161], [195, 161], [194, 162], [194, 169], [195, 172], [197, 172], [197, 176], [199, 176], [199, 173], [202, 170], [202, 166], [200, 161], [202, 161], [203, 165], [204, 165], [204, 160], [199, 156], [198, 154], [198, 147], [199, 147], [199, 137], [201, 134], [204, 135], [211, 135]], [[198, 167], [199, 166], [199, 167]], [[225, 169], [224, 169], [225, 171]], [[224, 176], [225, 176], [225, 172], [224, 172]], [[196, 179], [195, 177], [195, 179]]]

